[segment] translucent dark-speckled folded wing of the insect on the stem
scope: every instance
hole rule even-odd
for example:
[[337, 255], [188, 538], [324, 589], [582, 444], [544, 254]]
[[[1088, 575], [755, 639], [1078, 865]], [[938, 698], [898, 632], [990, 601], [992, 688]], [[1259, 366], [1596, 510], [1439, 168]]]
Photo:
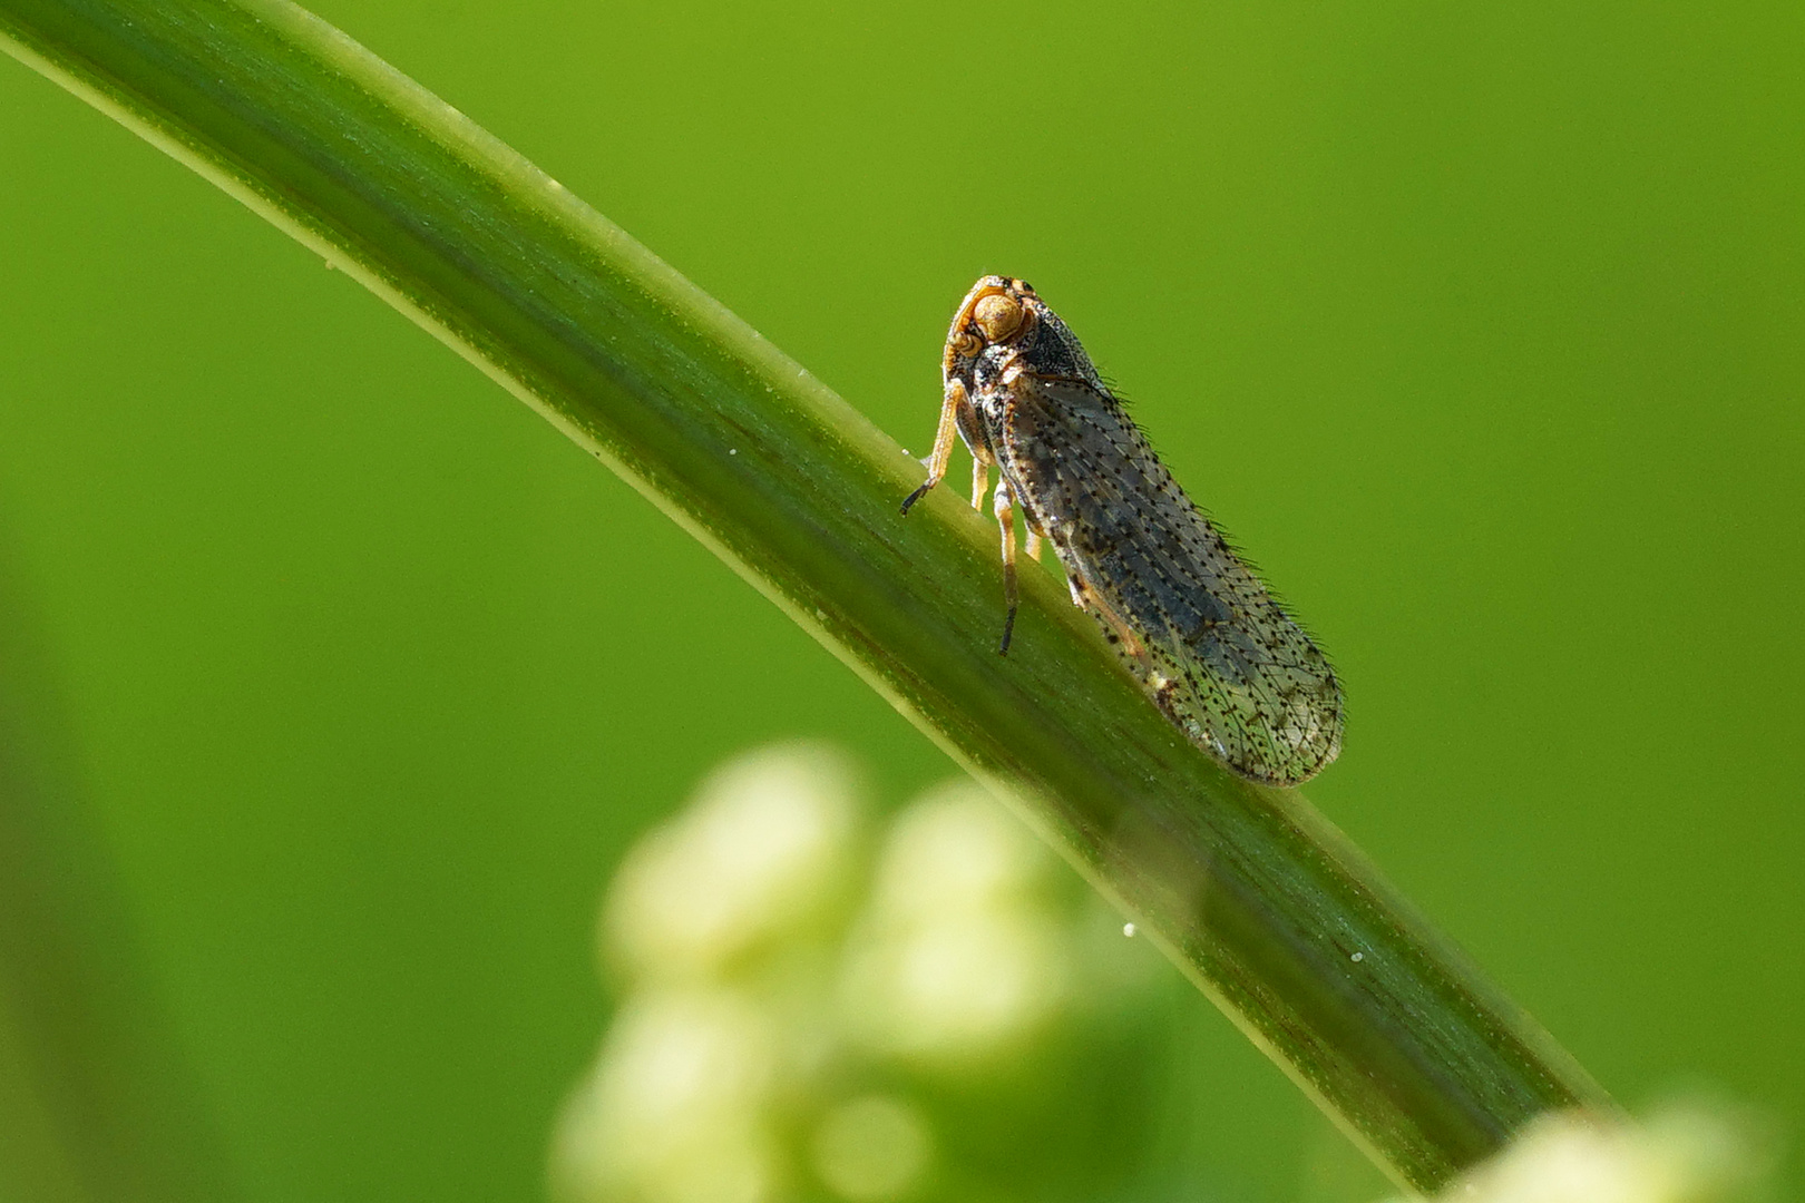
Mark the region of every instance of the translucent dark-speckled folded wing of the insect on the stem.
[[1161, 711], [1254, 781], [1296, 785], [1332, 761], [1343, 723], [1334, 669], [1121, 402], [1023, 373], [1004, 409], [996, 442], [1011, 485]]

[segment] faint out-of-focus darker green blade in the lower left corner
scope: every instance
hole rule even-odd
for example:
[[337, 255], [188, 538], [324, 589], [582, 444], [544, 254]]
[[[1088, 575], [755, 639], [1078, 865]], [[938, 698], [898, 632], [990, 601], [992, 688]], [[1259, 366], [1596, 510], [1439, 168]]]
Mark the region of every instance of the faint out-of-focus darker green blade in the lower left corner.
[[11, 586], [0, 563], [0, 1198], [227, 1199]]

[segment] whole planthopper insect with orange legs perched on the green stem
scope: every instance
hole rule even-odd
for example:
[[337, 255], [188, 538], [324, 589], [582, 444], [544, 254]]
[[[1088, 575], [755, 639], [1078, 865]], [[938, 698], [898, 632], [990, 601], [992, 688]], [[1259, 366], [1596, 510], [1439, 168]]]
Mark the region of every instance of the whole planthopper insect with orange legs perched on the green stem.
[[940, 363], [946, 399], [928, 482], [953, 433], [971, 449], [971, 503], [1002, 527], [1009, 651], [1016, 617], [1014, 507], [1029, 559], [1052, 545], [1072, 602], [1103, 628], [1161, 709], [1233, 772], [1296, 785], [1341, 752], [1341, 685], [1159, 462], [1085, 348], [1027, 283], [986, 276], [966, 294]]

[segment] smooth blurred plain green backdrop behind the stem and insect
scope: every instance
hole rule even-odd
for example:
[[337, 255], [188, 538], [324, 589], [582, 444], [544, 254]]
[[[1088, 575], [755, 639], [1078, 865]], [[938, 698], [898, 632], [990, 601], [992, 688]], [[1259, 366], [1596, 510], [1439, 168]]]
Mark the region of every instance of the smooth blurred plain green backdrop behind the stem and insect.
[[[314, 7], [917, 453], [1031, 280], [1336, 655], [1316, 804], [1626, 1104], [1805, 1127], [1798, 5]], [[538, 1198], [630, 840], [771, 738], [949, 763], [11, 61], [0, 231], [0, 575], [244, 1198]], [[1173, 999], [1161, 1138], [1309, 1198], [1338, 1138]]]

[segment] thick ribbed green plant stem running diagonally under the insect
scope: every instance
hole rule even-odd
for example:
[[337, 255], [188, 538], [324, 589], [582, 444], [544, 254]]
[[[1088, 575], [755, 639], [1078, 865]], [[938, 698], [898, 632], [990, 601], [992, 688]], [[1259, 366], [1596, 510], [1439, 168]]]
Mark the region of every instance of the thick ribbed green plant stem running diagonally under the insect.
[[[276, 0], [0, 0], [16, 58], [467, 357], [991, 783], [1401, 1183], [1608, 1109], [1296, 792], [1222, 772], [993, 528], [552, 179]], [[922, 321], [939, 321], [924, 314]], [[682, 664], [680, 649], [673, 662]]]

